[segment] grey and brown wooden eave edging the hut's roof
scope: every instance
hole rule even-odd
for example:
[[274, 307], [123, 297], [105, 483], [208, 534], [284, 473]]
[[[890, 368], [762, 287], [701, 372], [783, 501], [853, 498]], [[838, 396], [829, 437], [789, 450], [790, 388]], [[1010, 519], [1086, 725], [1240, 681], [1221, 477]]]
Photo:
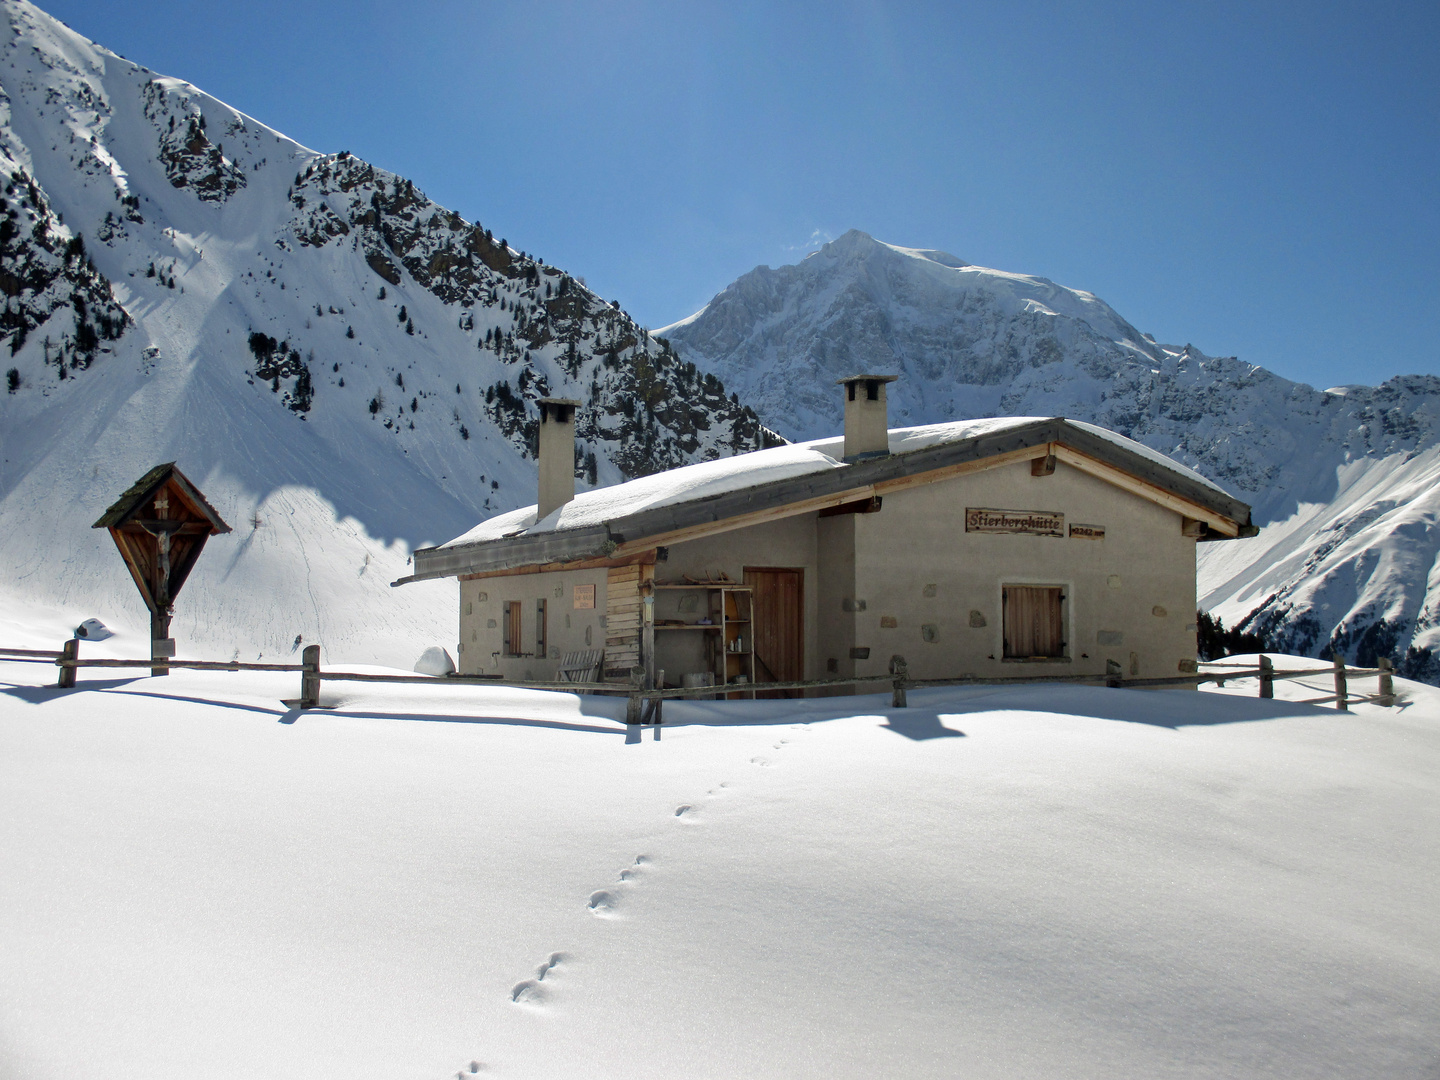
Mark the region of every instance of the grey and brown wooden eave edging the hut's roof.
[[393, 585], [536, 563], [625, 556], [644, 547], [744, 528], [763, 520], [811, 513], [1060, 451], [1068, 451], [1064, 455], [1068, 464], [1187, 517], [1202, 520], [1227, 539], [1251, 534], [1250, 507], [1240, 500], [1064, 418], [1053, 418], [909, 454], [893, 454], [844, 468], [657, 507], [615, 518], [605, 526], [521, 534], [459, 547], [420, 549], [415, 553], [416, 573]]

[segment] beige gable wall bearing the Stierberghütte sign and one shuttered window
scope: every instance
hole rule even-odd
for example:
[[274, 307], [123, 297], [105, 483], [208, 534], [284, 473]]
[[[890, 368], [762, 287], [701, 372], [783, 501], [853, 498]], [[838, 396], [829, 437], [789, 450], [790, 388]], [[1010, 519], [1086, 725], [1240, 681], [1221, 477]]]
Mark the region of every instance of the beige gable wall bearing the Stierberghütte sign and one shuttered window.
[[[966, 507], [1056, 511], [1067, 531], [1102, 526], [1104, 539], [966, 533]], [[884, 672], [894, 654], [917, 678], [1103, 674], [1107, 660], [1128, 677], [1178, 674], [1195, 658], [1195, 541], [1181, 524], [1063, 462], [1050, 477], [1022, 462], [886, 495], [855, 517], [855, 645], [871, 649], [855, 674]], [[1066, 661], [1002, 660], [1005, 585], [1064, 588]], [[842, 599], [822, 596], [821, 618], [844, 618]]]

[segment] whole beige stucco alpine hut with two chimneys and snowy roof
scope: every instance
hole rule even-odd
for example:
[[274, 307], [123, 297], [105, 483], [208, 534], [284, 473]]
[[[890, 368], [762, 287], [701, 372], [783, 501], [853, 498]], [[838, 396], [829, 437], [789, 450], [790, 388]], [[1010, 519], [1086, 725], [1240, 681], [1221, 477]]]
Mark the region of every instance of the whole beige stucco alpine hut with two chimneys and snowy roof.
[[896, 654], [916, 678], [1195, 670], [1195, 544], [1253, 536], [1248, 505], [1092, 423], [890, 429], [890, 380], [841, 380], [842, 436], [582, 494], [579, 406], [541, 400], [539, 505], [396, 585], [458, 579], [462, 674], [753, 693]]

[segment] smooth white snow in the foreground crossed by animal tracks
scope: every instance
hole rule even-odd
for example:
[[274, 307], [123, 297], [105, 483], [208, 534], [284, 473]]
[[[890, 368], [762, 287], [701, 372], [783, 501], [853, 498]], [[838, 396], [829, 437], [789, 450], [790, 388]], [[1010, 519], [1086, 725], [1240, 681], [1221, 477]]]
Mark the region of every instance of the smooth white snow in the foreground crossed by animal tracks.
[[1428, 687], [667, 704], [636, 737], [618, 698], [52, 680], [0, 665], [7, 1079], [1440, 1067]]

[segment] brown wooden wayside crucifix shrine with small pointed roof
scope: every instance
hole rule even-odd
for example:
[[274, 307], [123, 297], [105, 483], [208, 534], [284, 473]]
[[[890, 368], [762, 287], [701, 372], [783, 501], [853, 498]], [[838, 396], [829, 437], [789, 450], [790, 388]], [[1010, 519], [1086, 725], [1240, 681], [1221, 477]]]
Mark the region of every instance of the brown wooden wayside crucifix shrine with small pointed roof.
[[176, 468], [156, 465], [95, 523], [108, 528], [150, 608], [150, 660], [153, 675], [168, 675], [164, 664], [176, 654], [170, 616], [204, 541], [230, 527], [204, 501], [204, 495]]

